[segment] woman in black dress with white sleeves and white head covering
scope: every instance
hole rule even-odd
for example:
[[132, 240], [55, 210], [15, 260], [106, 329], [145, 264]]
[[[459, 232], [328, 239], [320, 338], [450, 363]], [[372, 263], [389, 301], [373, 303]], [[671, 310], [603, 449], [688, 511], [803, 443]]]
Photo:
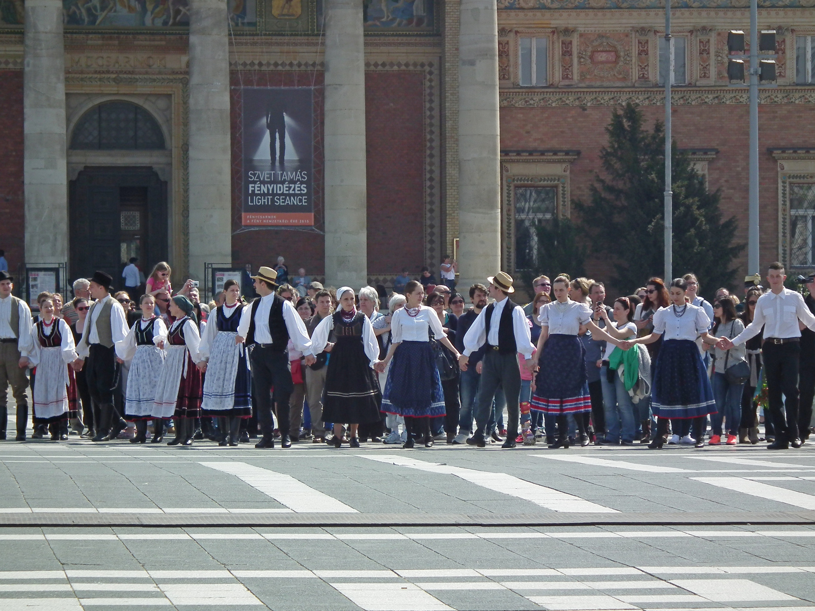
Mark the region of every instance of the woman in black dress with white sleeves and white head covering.
[[[340, 308], [324, 318], [311, 336], [311, 348], [319, 354], [330, 346], [325, 372], [323, 420], [334, 423], [334, 447], [342, 444], [342, 424], [350, 426], [351, 447], [359, 447], [359, 424], [380, 420], [379, 380], [373, 367], [379, 363], [379, 343], [368, 316], [355, 307], [354, 289], [337, 290]], [[333, 345], [328, 336], [333, 331]]]

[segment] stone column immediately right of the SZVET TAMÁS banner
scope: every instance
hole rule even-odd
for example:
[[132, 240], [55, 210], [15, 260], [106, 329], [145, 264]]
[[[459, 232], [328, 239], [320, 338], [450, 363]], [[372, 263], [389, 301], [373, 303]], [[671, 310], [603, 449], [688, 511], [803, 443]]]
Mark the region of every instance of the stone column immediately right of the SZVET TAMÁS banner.
[[325, 7], [325, 280], [368, 284], [363, 0]]

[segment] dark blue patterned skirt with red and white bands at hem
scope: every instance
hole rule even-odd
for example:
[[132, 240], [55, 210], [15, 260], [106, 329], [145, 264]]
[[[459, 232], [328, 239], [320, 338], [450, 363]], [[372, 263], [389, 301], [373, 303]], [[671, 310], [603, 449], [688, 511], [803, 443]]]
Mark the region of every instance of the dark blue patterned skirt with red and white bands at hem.
[[531, 408], [548, 414], [592, 411], [588, 394], [586, 349], [576, 335], [553, 333], [540, 354]]

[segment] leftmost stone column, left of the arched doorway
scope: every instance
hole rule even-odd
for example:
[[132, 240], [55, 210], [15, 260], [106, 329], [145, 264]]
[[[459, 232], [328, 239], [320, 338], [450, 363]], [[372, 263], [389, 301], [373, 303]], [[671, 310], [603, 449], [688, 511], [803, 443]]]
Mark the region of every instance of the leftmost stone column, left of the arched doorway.
[[25, 262], [68, 261], [65, 51], [61, 0], [26, 0]]

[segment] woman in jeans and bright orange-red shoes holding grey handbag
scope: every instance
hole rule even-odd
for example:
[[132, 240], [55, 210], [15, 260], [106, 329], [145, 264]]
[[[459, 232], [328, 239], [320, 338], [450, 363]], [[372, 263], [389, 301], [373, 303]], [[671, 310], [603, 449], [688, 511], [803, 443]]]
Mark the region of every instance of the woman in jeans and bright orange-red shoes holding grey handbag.
[[[738, 336], [744, 331], [744, 323], [736, 314], [736, 304], [733, 297], [720, 297], [713, 303], [713, 312], [716, 315], [716, 326], [713, 335], [729, 337]], [[727, 445], [736, 445], [737, 429], [742, 421], [742, 391], [744, 382], [735, 384], [727, 377], [726, 371], [747, 360], [744, 345], [737, 345], [729, 350], [714, 348], [713, 368], [711, 379], [713, 396], [716, 398], [716, 414], [711, 415], [713, 434], [708, 445], [719, 446], [722, 437], [722, 420], [727, 426]]]

